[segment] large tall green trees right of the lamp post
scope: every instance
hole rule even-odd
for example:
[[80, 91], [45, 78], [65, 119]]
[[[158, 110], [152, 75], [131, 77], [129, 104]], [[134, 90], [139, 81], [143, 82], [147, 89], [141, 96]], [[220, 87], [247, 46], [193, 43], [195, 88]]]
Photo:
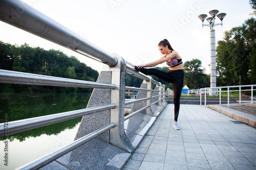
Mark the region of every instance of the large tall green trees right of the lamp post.
[[250, 18], [242, 26], [225, 32], [217, 46], [217, 85], [256, 83], [256, 20]]

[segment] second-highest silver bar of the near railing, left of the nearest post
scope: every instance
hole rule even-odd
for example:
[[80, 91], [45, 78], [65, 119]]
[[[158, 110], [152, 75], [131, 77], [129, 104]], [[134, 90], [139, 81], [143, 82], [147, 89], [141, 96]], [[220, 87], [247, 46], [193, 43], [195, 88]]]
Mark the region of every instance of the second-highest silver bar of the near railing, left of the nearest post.
[[115, 89], [114, 84], [104, 84], [84, 80], [67, 79], [53, 76], [36, 75], [25, 72], [0, 69], [0, 83], [65, 86], [82, 88], [108, 88]]

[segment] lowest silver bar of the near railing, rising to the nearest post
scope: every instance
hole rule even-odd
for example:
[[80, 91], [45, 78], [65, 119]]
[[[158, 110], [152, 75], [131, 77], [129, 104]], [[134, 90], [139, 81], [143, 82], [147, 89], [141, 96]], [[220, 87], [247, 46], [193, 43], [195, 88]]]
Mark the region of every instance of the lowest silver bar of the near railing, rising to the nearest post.
[[19, 167], [17, 169], [39, 169], [40, 167], [42, 166], [45, 166], [47, 165], [49, 162], [52, 162], [54, 160], [56, 160], [57, 158], [69, 153], [70, 151], [80, 147], [82, 144], [88, 142], [89, 140], [99, 136], [100, 134], [112, 129], [115, 127], [115, 124], [112, 123], [108, 126], [105, 126], [99, 130], [96, 130], [86, 136], [83, 136], [75, 141], [73, 141], [72, 143], [66, 145], [65, 147], [62, 147], [60, 149], [58, 149], [57, 151], [51, 153], [50, 155], [46, 155], [46, 156], [43, 156], [41, 158], [38, 158], [28, 164], [25, 164], [24, 166], [22, 167]]

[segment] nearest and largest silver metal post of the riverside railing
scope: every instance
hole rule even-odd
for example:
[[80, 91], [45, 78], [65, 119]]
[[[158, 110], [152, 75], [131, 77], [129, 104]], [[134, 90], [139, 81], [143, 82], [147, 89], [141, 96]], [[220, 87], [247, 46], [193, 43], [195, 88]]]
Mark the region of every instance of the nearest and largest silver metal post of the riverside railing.
[[[125, 61], [116, 54], [118, 62], [115, 67], [104, 65], [102, 71], [111, 71], [111, 84], [116, 85], [116, 89], [111, 90], [111, 104], [116, 107], [110, 110], [110, 123], [115, 127], [110, 130], [110, 143], [124, 151], [132, 153], [135, 150], [133, 144], [127, 138], [124, 131], [124, 102], [125, 102]], [[100, 97], [100, 96], [99, 96]]]

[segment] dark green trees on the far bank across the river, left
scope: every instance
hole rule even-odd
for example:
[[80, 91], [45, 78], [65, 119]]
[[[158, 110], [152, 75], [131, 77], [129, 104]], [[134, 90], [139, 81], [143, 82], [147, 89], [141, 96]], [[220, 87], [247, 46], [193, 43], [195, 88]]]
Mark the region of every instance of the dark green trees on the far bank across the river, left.
[[[96, 81], [98, 72], [74, 56], [56, 50], [30, 47], [29, 44], [11, 45], [0, 41], [0, 69], [32, 74]], [[0, 92], [91, 92], [91, 88], [52, 87], [1, 84]]]

